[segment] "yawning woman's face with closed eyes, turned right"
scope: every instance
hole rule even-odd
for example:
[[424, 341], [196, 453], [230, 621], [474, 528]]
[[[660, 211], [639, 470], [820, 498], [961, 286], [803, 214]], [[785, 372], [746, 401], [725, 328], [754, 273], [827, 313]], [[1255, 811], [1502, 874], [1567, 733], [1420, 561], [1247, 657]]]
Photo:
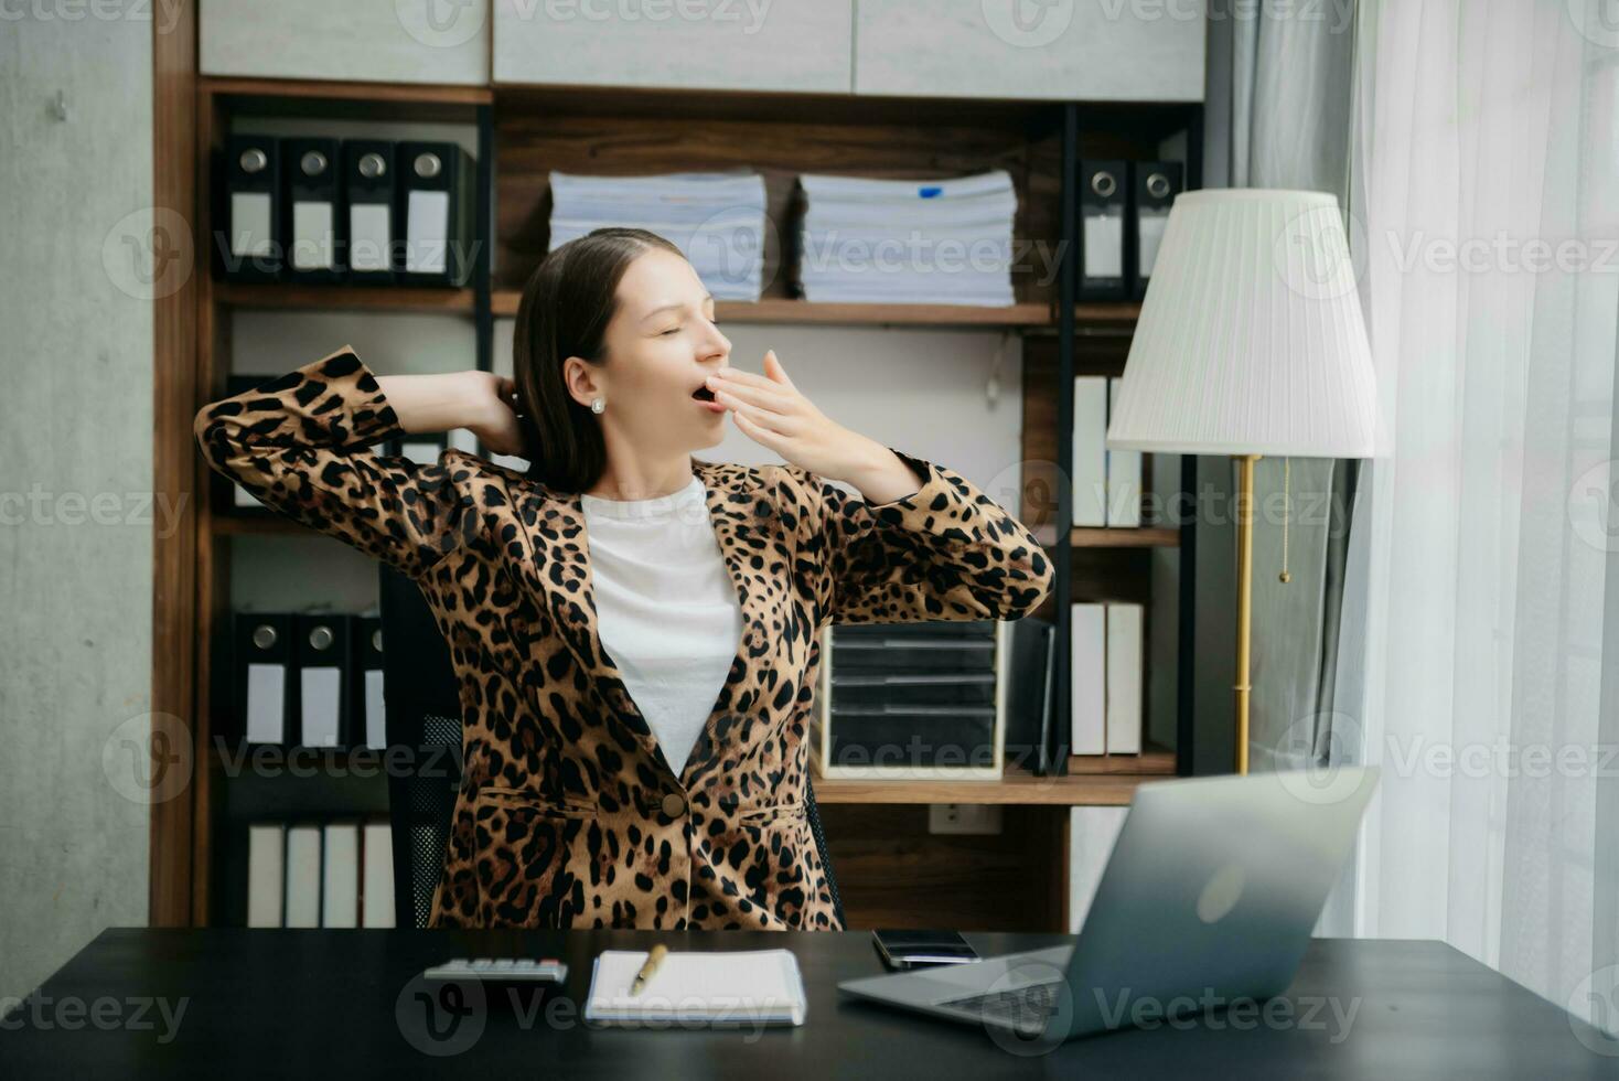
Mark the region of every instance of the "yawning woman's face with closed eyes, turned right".
[[696, 270], [654, 248], [623, 272], [617, 299], [604, 335], [606, 364], [570, 362], [575, 400], [589, 406], [601, 395], [602, 427], [646, 453], [719, 443], [725, 408], [712, 401], [704, 380], [727, 364], [730, 341], [714, 325], [714, 299]]

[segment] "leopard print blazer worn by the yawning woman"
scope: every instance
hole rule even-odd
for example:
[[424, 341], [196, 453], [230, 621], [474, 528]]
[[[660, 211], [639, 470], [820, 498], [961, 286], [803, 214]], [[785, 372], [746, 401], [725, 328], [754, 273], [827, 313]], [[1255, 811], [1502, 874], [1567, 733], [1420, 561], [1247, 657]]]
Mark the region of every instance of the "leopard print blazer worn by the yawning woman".
[[[1018, 618], [1039, 542], [968, 481], [900, 455], [882, 505], [797, 466], [693, 460], [743, 633], [675, 775], [596, 633], [575, 492], [403, 429], [343, 346], [204, 406], [209, 466], [410, 574], [460, 683], [463, 777], [431, 926], [842, 929], [803, 791], [824, 623]], [[899, 453], [899, 451], [895, 451]]]

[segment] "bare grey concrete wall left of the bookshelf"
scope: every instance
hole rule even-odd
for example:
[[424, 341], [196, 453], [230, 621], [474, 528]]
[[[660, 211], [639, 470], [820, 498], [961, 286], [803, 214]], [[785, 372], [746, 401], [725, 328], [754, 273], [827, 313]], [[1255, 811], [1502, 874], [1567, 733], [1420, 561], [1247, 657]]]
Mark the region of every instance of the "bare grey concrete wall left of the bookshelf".
[[151, 709], [152, 5], [125, 6], [0, 23], [0, 1008], [147, 919], [120, 736]]

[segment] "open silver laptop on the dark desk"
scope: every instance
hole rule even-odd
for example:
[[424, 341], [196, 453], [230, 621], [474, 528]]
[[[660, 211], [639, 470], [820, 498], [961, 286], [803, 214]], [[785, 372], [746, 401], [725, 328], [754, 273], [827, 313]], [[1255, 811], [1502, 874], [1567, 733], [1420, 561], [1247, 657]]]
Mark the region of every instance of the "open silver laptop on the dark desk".
[[1051, 1047], [1294, 981], [1378, 767], [1145, 783], [1072, 945], [845, 979], [853, 998]]

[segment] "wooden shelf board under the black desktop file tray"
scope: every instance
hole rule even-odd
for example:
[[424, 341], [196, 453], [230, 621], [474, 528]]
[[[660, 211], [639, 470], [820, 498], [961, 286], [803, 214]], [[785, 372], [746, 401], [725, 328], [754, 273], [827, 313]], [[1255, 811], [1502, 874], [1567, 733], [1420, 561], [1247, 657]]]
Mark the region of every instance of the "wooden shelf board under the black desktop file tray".
[[1067, 808], [1122, 808], [1137, 785], [1162, 774], [1069, 774], [1035, 777], [1009, 769], [999, 780], [814, 778], [816, 803], [999, 803]]

